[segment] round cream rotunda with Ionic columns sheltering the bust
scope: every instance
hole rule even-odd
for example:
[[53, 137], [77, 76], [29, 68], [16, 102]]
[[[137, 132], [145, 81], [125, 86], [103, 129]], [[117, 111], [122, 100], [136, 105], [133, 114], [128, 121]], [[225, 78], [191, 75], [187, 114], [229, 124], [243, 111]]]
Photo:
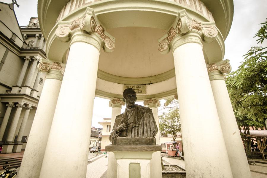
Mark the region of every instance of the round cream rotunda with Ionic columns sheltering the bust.
[[[187, 177], [251, 177], [224, 81], [232, 0], [39, 0], [38, 18], [47, 77], [20, 178], [85, 178], [94, 98], [110, 99], [112, 130], [125, 88], [157, 125], [159, 99], [178, 97]], [[159, 166], [155, 152], [150, 177]]]

